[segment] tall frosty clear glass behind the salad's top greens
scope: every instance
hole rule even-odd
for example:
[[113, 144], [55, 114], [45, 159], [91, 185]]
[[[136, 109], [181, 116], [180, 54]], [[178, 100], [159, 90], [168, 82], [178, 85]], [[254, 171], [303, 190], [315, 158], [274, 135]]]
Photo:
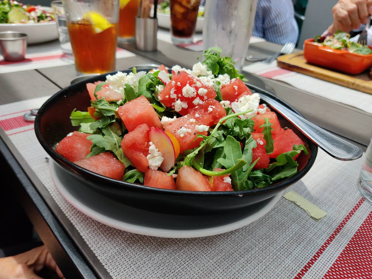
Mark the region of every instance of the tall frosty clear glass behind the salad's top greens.
[[220, 47], [231, 54], [241, 70], [252, 34], [257, 0], [207, 0], [203, 27], [203, 49]]

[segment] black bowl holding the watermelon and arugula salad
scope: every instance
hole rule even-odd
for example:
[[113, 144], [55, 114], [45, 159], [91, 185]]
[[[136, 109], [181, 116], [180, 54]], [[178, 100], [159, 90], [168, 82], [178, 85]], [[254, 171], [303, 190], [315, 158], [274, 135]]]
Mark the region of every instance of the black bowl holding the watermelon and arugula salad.
[[[123, 72], [129, 73], [130, 70]], [[310, 154], [305, 155], [302, 152], [298, 157], [298, 173], [266, 188], [239, 192], [165, 190], [110, 179], [106, 176], [93, 173], [71, 163], [55, 152], [53, 147], [69, 132], [77, 129], [77, 127], [71, 126], [69, 118], [71, 111], [74, 108], [86, 110], [90, 106], [90, 97], [86, 89], [86, 83], [105, 80], [105, 77], [106, 74], [102, 74], [89, 78], [68, 86], [50, 97], [38, 111], [35, 119], [35, 133], [42, 147], [62, 169], [91, 189], [115, 201], [149, 211], [172, 212], [173, 214], [174, 212], [178, 212], [179, 214], [198, 214], [201, 211], [205, 213], [239, 209], [268, 199], [291, 186], [310, 170], [317, 156], [317, 146], [278, 114], [282, 127], [287, 126], [292, 128], [307, 143]], [[298, 113], [294, 108], [269, 92], [250, 84], [247, 84], [247, 86], [252, 92], [268, 95]]]

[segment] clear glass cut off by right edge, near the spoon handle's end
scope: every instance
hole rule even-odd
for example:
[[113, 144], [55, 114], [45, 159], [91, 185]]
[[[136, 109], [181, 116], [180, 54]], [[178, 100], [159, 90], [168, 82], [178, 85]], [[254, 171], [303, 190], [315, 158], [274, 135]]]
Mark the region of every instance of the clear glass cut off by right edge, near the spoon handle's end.
[[360, 193], [372, 203], [372, 140], [369, 142], [362, 170], [360, 170], [358, 188]]

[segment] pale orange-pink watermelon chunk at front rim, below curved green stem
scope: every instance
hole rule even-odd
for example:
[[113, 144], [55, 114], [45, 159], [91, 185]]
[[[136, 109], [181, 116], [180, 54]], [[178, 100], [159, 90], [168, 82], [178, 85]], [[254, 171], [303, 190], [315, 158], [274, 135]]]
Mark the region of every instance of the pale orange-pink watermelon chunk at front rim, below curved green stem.
[[183, 166], [179, 171], [176, 179], [177, 190], [182, 191], [211, 191], [209, 180], [199, 171], [192, 167]]

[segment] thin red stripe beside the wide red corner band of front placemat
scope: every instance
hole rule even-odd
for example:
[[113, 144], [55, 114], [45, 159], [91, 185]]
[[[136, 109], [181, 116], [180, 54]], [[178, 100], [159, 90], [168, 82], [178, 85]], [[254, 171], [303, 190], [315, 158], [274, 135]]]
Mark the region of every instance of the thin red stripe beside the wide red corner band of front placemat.
[[361, 198], [359, 202], [353, 207], [353, 209], [349, 212], [349, 214], [346, 215], [346, 217], [342, 220], [340, 225], [332, 232], [330, 237], [323, 243], [323, 245], [319, 248], [317, 253], [315, 253], [314, 256], [312, 256], [311, 260], [305, 264], [305, 266], [301, 269], [301, 271], [295, 276], [294, 279], [300, 279], [302, 276], [305, 275], [306, 272], [310, 269], [310, 267], [319, 259], [320, 255], [323, 254], [325, 248], [331, 244], [331, 242], [334, 240], [334, 238], [339, 234], [339, 232], [342, 230], [344, 225], [347, 223], [347, 221], [350, 220], [350, 218], [354, 215], [354, 213], [358, 210], [358, 208], [362, 205], [362, 203], [365, 201], [365, 198]]

